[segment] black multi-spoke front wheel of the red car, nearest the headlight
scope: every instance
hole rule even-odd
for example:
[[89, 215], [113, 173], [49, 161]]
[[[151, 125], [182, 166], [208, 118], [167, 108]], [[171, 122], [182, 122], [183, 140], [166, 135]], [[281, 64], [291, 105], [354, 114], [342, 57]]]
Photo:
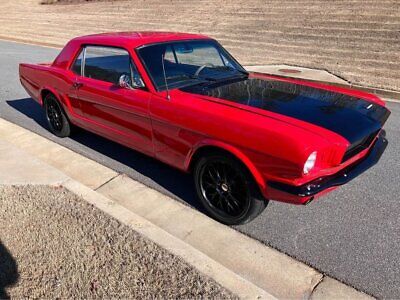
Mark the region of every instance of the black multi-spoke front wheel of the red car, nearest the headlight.
[[235, 158], [223, 154], [204, 156], [194, 170], [198, 197], [217, 221], [244, 224], [267, 206], [249, 171]]

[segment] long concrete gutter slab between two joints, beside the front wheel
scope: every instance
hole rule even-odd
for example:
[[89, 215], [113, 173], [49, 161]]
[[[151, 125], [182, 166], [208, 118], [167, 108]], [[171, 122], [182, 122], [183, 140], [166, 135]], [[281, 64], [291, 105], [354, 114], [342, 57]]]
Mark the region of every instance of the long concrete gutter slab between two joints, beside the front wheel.
[[97, 191], [276, 297], [308, 298], [322, 280], [322, 274], [303, 263], [125, 175]]

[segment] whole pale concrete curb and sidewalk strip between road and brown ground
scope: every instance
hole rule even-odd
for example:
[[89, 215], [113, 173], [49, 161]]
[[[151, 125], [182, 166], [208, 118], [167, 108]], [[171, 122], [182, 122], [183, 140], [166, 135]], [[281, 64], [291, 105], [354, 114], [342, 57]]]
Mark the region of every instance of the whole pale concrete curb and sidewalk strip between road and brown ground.
[[123, 174], [1, 119], [0, 157], [0, 184], [61, 184], [240, 298], [369, 298]]

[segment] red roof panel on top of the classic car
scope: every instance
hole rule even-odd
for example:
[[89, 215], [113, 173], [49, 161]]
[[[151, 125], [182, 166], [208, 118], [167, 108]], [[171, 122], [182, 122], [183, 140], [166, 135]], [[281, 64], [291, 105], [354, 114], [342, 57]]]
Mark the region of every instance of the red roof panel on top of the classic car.
[[77, 37], [74, 41], [81, 44], [114, 44], [129, 45], [139, 47], [147, 44], [191, 40], [191, 39], [210, 39], [202, 34], [183, 33], [183, 32], [162, 32], [162, 31], [135, 31], [135, 32], [109, 32], [92, 34]]

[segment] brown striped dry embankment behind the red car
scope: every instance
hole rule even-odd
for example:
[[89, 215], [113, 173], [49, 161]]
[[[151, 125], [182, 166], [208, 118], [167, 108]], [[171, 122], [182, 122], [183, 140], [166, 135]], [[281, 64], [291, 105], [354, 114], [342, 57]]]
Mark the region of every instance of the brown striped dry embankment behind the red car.
[[242, 64], [321, 68], [355, 84], [400, 91], [398, 0], [39, 2], [2, 0], [0, 36], [63, 45], [105, 31], [200, 32]]

